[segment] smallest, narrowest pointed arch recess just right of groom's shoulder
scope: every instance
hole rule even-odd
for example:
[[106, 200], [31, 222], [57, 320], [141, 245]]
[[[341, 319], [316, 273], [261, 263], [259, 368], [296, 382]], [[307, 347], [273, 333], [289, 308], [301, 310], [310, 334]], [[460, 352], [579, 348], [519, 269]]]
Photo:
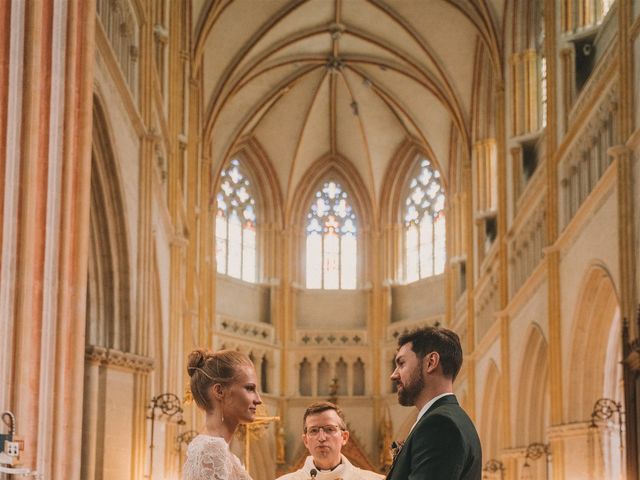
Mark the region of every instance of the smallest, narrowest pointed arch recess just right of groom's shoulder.
[[482, 415], [480, 416], [480, 438], [485, 458], [499, 458], [500, 431], [502, 428], [502, 396], [500, 389], [500, 371], [495, 362], [489, 362], [482, 397]]

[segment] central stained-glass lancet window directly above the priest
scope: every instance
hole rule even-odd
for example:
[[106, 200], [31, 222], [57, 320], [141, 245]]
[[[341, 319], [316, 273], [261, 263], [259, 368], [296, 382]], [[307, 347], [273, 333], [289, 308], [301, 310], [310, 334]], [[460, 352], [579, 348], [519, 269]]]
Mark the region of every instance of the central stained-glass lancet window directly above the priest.
[[357, 222], [349, 195], [326, 182], [307, 213], [307, 288], [356, 288]]

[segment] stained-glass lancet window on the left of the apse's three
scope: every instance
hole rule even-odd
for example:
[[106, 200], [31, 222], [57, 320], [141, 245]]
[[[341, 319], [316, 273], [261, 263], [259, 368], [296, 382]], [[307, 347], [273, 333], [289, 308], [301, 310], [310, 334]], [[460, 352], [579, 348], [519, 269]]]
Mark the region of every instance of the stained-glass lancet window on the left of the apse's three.
[[251, 182], [236, 158], [222, 170], [216, 195], [218, 273], [256, 281], [256, 210]]

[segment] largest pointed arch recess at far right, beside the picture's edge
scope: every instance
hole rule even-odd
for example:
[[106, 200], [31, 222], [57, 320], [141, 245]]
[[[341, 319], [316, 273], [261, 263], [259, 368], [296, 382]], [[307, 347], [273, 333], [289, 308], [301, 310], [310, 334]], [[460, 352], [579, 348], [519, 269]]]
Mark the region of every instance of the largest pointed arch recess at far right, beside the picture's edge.
[[584, 421], [601, 397], [622, 400], [620, 303], [611, 274], [592, 264], [584, 276], [571, 326], [567, 419]]

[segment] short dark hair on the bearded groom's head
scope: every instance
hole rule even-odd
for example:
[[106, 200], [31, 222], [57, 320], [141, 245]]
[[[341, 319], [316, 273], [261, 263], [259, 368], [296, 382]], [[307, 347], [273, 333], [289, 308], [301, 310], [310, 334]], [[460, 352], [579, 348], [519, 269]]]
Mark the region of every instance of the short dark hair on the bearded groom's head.
[[411, 342], [411, 350], [423, 359], [430, 352], [438, 352], [442, 373], [456, 379], [462, 367], [462, 345], [453, 330], [442, 327], [422, 327], [400, 335], [398, 348]]

